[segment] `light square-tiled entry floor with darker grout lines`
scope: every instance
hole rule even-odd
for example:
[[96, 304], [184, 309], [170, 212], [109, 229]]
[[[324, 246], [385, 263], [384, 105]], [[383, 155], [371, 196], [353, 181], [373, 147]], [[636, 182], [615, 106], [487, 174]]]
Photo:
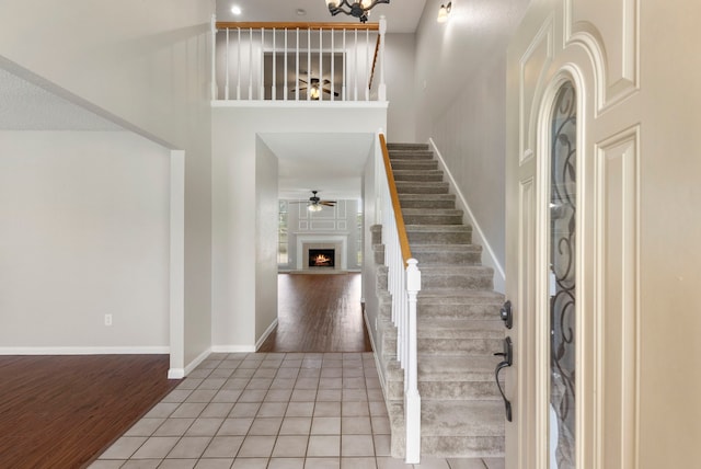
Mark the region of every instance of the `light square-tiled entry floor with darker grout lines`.
[[[212, 354], [90, 469], [409, 469], [371, 353]], [[423, 458], [415, 469], [503, 469]]]

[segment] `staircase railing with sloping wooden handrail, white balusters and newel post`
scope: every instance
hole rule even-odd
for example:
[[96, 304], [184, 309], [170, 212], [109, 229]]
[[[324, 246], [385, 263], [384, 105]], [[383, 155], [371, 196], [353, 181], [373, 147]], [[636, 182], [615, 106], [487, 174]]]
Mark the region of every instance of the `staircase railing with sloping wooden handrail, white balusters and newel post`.
[[418, 262], [412, 258], [404, 218], [384, 136], [380, 134], [383, 174], [379, 180], [382, 211], [382, 243], [388, 267], [388, 289], [392, 296], [392, 322], [397, 327], [397, 359], [404, 370], [405, 462], [421, 460], [421, 396], [416, 353], [416, 296], [421, 290]]

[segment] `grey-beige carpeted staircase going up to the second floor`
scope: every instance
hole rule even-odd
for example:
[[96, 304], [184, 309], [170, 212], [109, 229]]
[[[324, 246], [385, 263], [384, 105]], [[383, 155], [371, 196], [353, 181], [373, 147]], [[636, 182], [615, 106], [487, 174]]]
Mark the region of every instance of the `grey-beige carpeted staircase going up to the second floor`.
[[[417, 306], [422, 456], [502, 457], [504, 404], [494, 381], [503, 350], [501, 294], [481, 265], [482, 247], [462, 224], [455, 195], [427, 145], [389, 144], [392, 171], [413, 256], [422, 272]], [[374, 230], [383, 263], [381, 227]], [[387, 267], [378, 266], [378, 347], [392, 426], [392, 456], [404, 456], [403, 370], [397, 362]]]

